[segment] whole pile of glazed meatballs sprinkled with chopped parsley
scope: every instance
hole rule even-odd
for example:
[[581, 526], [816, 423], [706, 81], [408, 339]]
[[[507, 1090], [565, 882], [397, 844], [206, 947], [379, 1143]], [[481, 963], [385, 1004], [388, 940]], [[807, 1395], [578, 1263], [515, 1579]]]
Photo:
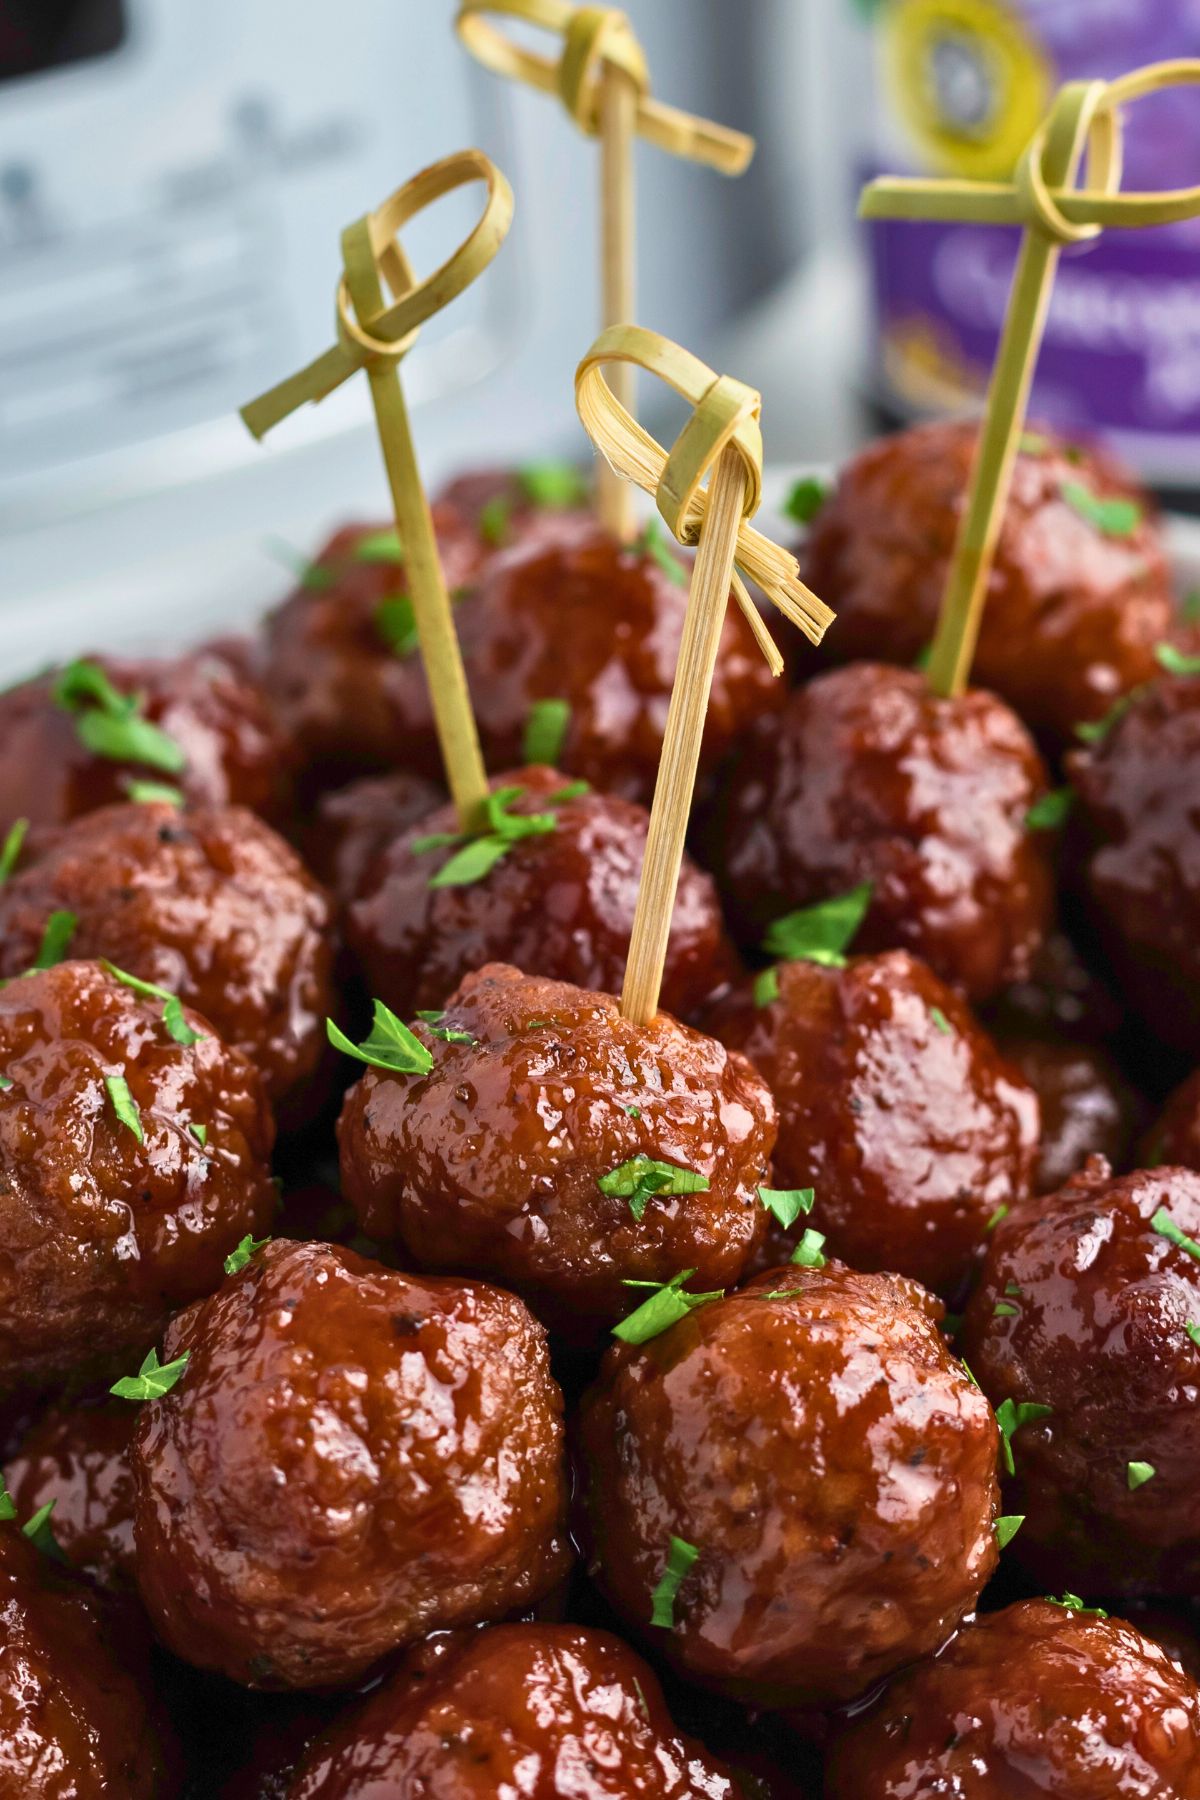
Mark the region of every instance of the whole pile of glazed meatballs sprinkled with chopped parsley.
[[1200, 607], [1022, 441], [802, 484], [619, 999], [687, 556], [558, 464], [0, 695], [0, 1800], [1200, 1800]]

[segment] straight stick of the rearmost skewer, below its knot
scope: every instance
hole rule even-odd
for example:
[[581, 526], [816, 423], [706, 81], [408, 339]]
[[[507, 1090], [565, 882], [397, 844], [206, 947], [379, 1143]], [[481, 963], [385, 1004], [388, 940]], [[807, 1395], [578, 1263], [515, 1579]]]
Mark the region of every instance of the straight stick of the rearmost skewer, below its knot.
[[[601, 326], [619, 326], [637, 315], [637, 205], [633, 191], [633, 139], [637, 133], [637, 85], [615, 63], [599, 76], [601, 113]], [[637, 416], [637, 371], [621, 364], [613, 371], [613, 394]], [[637, 535], [633, 488], [601, 463], [596, 504], [621, 544]]]

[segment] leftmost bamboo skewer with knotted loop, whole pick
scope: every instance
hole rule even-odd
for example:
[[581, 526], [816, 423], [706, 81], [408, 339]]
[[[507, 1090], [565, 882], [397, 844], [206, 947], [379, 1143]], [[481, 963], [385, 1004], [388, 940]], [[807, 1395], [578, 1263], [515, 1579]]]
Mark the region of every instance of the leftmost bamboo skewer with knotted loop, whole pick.
[[[441, 268], [416, 283], [396, 232], [434, 200], [475, 180], [488, 187], [479, 225]], [[423, 169], [376, 212], [356, 220], [342, 234], [336, 346], [241, 409], [248, 430], [263, 437], [297, 407], [324, 400], [351, 374], [367, 371], [446, 785], [464, 832], [473, 830], [482, 817], [488, 774], [434, 520], [421, 484], [399, 362], [412, 349], [421, 324], [482, 274], [504, 243], [511, 218], [513, 193], [482, 151], [461, 151]], [[394, 295], [390, 306], [383, 281]]]

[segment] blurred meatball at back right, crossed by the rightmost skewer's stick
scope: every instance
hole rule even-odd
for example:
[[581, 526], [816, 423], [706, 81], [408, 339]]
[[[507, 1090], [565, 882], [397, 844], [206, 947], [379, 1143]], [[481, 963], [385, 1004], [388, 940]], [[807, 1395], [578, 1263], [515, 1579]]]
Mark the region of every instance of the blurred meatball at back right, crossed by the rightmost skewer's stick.
[[[844, 470], [806, 545], [806, 580], [838, 614], [838, 661], [910, 664], [928, 644], [975, 455], [975, 425], [919, 425]], [[1072, 506], [1072, 499], [1076, 504]], [[1090, 500], [1117, 502], [1121, 529]], [[1092, 517], [1088, 513], [1092, 511]], [[973, 679], [1038, 734], [1076, 724], [1155, 673], [1175, 603], [1157, 509], [1096, 452], [1022, 439], [991, 567]]]

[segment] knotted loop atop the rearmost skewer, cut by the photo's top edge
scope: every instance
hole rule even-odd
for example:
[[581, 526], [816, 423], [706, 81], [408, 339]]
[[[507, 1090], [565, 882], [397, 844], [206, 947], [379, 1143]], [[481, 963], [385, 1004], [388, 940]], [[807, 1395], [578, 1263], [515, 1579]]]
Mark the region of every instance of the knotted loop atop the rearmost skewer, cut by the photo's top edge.
[[[554, 32], [563, 40], [561, 54], [551, 58], [522, 49], [488, 14]], [[570, 0], [459, 0], [455, 31], [484, 68], [556, 95], [590, 137], [601, 128], [601, 65], [610, 63], [637, 88], [637, 135], [648, 144], [721, 175], [741, 175], [754, 155], [754, 139], [745, 131], [698, 119], [651, 95], [646, 54], [617, 7], [576, 7]]]

